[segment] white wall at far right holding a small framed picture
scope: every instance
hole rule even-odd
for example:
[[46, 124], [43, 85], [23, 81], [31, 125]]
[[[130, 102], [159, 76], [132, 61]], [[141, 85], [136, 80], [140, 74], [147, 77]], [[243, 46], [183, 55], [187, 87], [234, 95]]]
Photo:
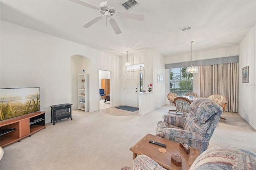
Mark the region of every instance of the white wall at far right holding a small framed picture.
[[[249, 66], [249, 83], [242, 83], [242, 68]], [[240, 43], [238, 64], [238, 113], [256, 129], [256, 25]]]

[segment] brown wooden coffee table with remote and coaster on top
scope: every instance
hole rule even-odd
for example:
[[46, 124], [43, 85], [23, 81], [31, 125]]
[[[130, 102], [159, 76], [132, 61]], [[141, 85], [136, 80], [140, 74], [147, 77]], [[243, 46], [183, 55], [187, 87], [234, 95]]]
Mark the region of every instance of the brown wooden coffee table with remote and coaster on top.
[[[149, 143], [149, 140], [166, 144], [165, 149], [167, 152], [159, 152], [158, 148], [163, 147]], [[146, 136], [144, 136], [141, 140], [134, 144], [132, 148], [130, 148], [130, 151], [133, 152], [133, 158], [136, 158], [137, 154], [147, 155], [168, 170], [188, 170], [199, 155], [199, 151], [195, 148], [190, 147], [190, 153], [186, 154], [186, 152], [180, 147], [179, 143], [160, 138], [152, 134], [146, 134]], [[182, 157], [182, 166], [176, 166], [171, 162], [171, 156], [174, 153], [179, 154]]]

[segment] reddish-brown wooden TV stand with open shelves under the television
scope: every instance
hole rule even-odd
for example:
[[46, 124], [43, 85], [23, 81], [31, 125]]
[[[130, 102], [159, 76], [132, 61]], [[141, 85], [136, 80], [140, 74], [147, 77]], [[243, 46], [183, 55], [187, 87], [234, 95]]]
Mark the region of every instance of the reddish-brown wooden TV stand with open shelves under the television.
[[45, 113], [46, 112], [33, 112], [24, 114], [22, 116], [1, 120], [1, 129], [16, 128], [16, 130], [2, 134], [0, 136], [0, 146], [6, 146], [16, 141], [20, 142], [20, 139], [31, 136], [31, 134], [37, 132], [38, 130], [46, 128]]

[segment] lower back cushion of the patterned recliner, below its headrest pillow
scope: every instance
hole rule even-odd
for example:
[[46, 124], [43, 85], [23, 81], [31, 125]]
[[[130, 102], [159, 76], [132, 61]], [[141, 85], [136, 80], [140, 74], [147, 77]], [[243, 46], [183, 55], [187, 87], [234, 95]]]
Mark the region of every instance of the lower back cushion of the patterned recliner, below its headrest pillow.
[[210, 121], [201, 123], [193, 114], [189, 114], [184, 124], [184, 130], [197, 132], [201, 136], [204, 136], [210, 123]]

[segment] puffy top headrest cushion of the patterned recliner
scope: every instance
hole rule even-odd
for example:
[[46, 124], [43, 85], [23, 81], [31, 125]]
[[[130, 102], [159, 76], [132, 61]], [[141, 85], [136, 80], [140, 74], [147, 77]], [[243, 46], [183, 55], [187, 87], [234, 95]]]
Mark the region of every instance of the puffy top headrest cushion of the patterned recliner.
[[199, 98], [190, 104], [190, 113], [196, 116], [200, 123], [206, 122], [218, 112], [223, 112], [222, 107], [208, 98]]

